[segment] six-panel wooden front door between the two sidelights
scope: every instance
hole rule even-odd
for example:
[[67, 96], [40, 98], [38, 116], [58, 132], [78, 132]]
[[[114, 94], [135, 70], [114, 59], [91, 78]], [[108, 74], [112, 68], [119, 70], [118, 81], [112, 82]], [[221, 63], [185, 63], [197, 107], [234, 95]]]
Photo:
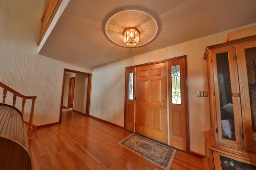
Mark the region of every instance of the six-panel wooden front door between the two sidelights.
[[136, 68], [136, 133], [168, 143], [166, 63]]

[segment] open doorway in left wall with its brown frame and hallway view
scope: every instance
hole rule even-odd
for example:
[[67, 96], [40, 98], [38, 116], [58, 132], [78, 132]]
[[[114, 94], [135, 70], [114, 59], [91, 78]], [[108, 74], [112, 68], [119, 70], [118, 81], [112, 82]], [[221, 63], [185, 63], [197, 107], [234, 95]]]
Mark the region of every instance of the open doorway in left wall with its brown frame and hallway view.
[[63, 107], [76, 109], [74, 111], [89, 117], [91, 84], [92, 74], [64, 69], [59, 123], [61, 123]]

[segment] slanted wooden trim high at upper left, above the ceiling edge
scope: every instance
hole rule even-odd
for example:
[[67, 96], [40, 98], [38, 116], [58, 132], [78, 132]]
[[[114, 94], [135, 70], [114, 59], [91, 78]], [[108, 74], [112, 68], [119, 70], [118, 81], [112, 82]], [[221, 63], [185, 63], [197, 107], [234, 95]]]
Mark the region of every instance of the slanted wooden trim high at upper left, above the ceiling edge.
[[53, 17], [55, 16], [62, 0], [48, 0], [46, 2], [46, 6], [44, 8], [44, 14], [41, 18], [42, 25], [41, 25], [41, 31], [40, 31], [40, 37], [37, 42], [37, 45], [40, 45], [46, 30], [48, 29], [50, 23], [52, 22]]

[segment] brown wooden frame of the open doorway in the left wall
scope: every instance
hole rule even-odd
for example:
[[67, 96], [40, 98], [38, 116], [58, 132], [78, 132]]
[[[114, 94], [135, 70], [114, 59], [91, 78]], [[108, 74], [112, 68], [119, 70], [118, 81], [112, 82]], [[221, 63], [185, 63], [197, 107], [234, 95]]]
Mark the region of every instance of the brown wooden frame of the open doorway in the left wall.
[[86, 111], [85, 111], [85, 116], [86, 116], [86, 117], [89, 117], [89, 116], [90, 116], [90, 98], [91, 98], [92, 74], [91, 74], [91, 73], [87, 73], [87, 72], [81, 72], [81, 71], [70, 70], [70, 69], [64, 68], [63, 81], [62, 81], [62, 94], [61, 94], [61, 101], [60, 101], [60, 118], [59, 118], [59, 123], [61, 123], [61, 118], [62, 118], [62, 104], [63, 104], [63, 96], [64, 96], [64, 86], [65, 86], [66, 72], [74, 72], [74, 73], [79, 73], [79, 74], [88, 75], [88, 87], [87, 87], [87, 96], [86, 96]]

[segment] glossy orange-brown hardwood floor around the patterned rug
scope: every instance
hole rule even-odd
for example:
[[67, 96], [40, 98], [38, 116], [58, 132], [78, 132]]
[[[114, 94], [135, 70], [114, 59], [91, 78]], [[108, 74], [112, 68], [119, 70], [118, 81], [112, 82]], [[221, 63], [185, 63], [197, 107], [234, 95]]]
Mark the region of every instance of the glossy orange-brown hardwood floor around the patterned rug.
[[[72, 111], [62, 123], [34, 130], [35, 170], [162, 170], [118, 144], [131, 133]], [[176, 150], [170, 170], [203, 170], [202, 159]]]

